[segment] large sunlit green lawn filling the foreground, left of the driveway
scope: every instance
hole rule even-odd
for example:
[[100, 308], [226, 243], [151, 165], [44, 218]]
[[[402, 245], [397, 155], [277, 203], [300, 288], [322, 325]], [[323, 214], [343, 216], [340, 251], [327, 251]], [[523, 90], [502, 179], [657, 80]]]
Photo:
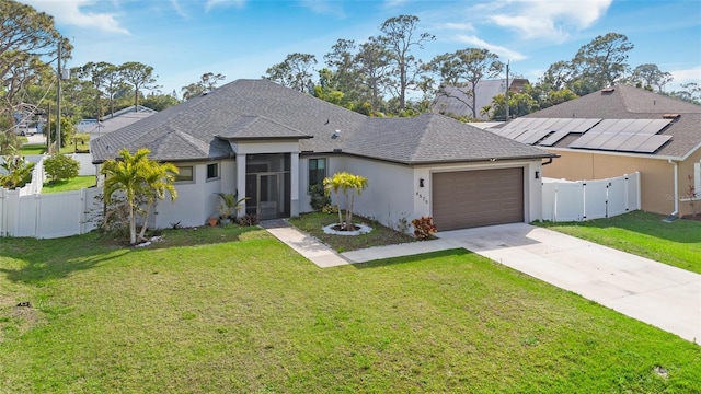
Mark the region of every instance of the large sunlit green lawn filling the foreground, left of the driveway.
[[2, 239], [0, 366], [12, 393], [701, 387], [698, 345], [463, 250], [320, 269], [235, 225]]

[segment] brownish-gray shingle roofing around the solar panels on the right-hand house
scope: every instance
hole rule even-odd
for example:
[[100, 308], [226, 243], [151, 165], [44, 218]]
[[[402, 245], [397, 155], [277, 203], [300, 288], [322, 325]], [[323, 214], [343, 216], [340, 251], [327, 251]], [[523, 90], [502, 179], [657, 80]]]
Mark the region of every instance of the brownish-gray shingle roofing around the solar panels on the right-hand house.
[[[671, 141], [655, 154], [683, 158], [701, 143], [701, 106], [643, 89], [616, 85], [611, 92], [594, 92], [576, 100], [527, 115], [536, 118], [662, 119], [664, 114], [681, 115], [660, 135]], [[563, 139], [554, 148], [567, 148]]]

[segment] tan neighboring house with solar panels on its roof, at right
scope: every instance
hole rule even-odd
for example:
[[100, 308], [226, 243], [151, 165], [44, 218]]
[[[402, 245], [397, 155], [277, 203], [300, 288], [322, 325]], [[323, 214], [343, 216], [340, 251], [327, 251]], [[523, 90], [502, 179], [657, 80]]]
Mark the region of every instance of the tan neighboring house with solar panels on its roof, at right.
[[544, 176], [601, 179], [639, 171], [643, 210], [678, 216], [701, 210], [699, 105], [617, 85], [491, 130], [560, 155], [543, 166]]

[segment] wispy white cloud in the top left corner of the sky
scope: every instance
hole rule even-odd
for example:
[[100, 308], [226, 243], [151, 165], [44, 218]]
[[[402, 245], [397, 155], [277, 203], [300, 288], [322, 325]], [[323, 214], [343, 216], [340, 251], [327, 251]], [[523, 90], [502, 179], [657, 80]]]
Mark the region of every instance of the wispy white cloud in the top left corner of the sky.
[[93, 0], [22, 0], [23, 3], [54, 16], [57, 23], [80, 27], [99, 28], [110, 33], [129, 34], [116, 20], [116, 14], [108, 12], [83, 11], [82, 8], [93, 5]]

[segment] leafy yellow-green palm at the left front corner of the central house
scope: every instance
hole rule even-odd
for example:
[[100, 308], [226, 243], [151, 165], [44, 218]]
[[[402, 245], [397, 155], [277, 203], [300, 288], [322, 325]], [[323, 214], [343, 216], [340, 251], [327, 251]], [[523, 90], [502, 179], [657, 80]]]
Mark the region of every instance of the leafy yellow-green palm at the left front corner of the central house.
[[[105, 202], [112, 204], [116, 192], [123, 192], [129, 212], [129, 243], [136, 243], [136, 210], [139, 201], [147, 202], [147, 210], [156, 201], [163, 199], [168, 190], [171, 200], [177, 198], [173, 183], [177, 169], [170, 163], [158, 163], [148, 158], [151, 151], [139, 149], [135, 154], [125, 148], [119, 151], [122, 158], [107, 160], [101, 173], [105, 175]], [[146, 223], [143, 224], [146, 228]], [[142, 229], [141, 236], [146, 229]]]

